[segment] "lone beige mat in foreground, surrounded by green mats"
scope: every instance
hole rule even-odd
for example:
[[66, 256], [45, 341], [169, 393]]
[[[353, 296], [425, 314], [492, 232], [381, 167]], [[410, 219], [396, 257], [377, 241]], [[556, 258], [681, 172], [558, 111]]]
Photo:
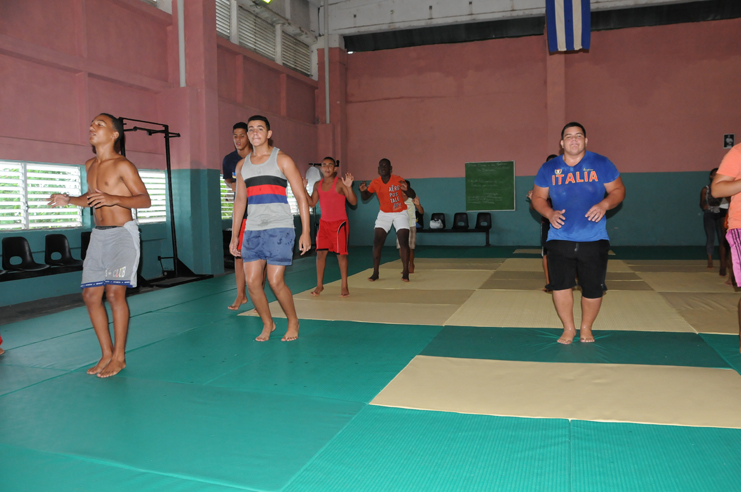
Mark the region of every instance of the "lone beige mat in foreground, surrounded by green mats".
[[371, 404], [739, 429], [741, 375], [699, 367], [417, 356]]

